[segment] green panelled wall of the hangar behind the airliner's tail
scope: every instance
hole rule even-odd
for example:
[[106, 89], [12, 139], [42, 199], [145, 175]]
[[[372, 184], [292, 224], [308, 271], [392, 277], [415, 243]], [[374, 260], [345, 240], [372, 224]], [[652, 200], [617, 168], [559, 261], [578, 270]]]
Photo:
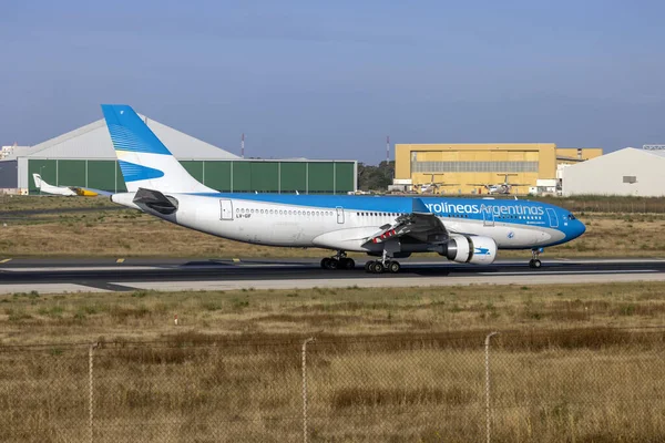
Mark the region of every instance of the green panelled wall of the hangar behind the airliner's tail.
[[[350, 161], [182, 161], [197, 181], [219, 192], [346, 194], [356, 190], [357, 164]], [[30, 194], [39, 194], [32, 174], [55, 186], [126, 192], [116, 161], [29, 158]]]

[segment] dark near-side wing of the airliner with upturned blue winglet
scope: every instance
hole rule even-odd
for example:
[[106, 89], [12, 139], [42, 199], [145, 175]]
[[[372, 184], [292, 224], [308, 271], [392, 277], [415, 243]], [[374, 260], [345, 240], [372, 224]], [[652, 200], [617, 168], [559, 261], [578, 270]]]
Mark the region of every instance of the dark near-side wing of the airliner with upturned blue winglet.
[[383, 225], [366, 243], [383, 243], [392, 237], [411, 237], [422, 243], [442, 243], [449, 237], [446, 226], [430, 213], [420, 198], [413, 198], [413, 212], [397, 217], [395, 224]]

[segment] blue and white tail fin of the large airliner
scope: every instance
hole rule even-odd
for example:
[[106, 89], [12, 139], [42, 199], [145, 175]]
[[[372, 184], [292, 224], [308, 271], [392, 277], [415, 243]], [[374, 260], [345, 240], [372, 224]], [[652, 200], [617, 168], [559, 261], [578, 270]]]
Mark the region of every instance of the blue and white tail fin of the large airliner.
[[131, 106], [103, 104], [102, 112], [129, 192], [215, 192], [187, 173]]

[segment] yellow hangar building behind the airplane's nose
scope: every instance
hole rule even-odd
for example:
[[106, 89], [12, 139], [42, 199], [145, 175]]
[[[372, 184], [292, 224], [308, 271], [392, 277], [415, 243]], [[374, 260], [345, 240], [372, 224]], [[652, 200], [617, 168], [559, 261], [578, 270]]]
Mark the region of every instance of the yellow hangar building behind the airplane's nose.
[[434, 183], [429, 190], [485, 194], [508, 178], [512, 194], [526, 194], [538, 181], [556, 181], [559, 165], [602, 154], [597, 147], [560, 148], [554, 143], [396, 144], [395, 184], [420, 192]]

